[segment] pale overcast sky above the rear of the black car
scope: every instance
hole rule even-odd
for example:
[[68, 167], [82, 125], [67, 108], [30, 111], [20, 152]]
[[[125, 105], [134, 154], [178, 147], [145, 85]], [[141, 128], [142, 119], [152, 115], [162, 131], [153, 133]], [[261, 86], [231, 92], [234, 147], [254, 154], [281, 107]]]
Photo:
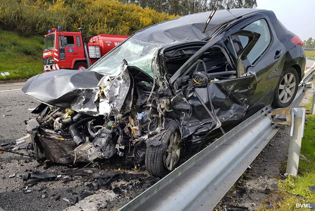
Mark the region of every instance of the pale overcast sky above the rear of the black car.
[[272, 10], [303, 41], [315, 38], [315, 0], [257, 0], [256, 8]]

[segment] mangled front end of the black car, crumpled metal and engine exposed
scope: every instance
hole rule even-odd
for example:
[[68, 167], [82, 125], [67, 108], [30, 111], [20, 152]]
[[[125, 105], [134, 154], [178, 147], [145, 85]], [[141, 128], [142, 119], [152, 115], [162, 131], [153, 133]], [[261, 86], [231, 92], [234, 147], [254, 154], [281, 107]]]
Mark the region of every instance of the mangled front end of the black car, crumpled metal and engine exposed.
[[[36, 159], [66, 164], [119, 156], [138, 168], [145, 164], [146, 153], [158, 153], [148, 152], [148, 146], [164, 144], [163, 134], [168, 132], [165, 127], [171, 124], [179, 134], [179, 124], [167, 117], [173, 111], [171, 96], [158, 98], [158, 86], [153, 86], [150, 77], [131, 68], [136, 73], [131, 74], [125, 66], [116, 78], [99, 80], [97, 89], [73, 91], [77, 104], [69, 102], [67, 108], [51, 106], [56, 104], [56, 99], [52, 99], [38, 106], [33, 111], [37, 118], [26, 122]], [[89, 106], [91, 102], [98, 113], [94, 112], [94, 106]], [[167, 141], [169, 138], [164, 140]], [[169, 168], [174, 168], [178, 158], [176, 162], [172, 159]]]

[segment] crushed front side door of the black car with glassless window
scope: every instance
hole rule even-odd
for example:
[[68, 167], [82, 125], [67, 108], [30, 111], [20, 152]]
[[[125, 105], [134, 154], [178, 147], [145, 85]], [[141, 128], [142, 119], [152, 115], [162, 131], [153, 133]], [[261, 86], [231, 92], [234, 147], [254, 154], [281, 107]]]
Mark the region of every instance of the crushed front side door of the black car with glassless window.
[[[174, 81], [177, 95], [173, 107], [189, 107], [189, 112], [181, 119], [183, 138], [191, 135], [198, 141], [213, 129], [228, 130], [244, 119], [250, 106], [256, 77], [251, 74], [237, 77], [237, 67], [223, 44], [225, 40], [226, 37], [222, 37], [203, 52], [196, 53], [198, 56], [189, 61], [192, 63], [189, 68], [178, 70], [181, 73]], [[253, 46], [251, 43], [247, 47]], [[179, 102], [182, 106], [178, 106]], [[185, 102], [187, 106], [183, 106]]]

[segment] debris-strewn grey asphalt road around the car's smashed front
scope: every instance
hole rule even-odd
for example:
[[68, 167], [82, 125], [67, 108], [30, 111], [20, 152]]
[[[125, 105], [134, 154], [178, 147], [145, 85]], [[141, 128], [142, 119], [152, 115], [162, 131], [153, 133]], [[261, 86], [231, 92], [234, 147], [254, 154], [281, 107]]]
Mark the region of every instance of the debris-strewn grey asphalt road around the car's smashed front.
[[[14, 89], [8, 90], [11, 87]], [[19, 88], [8, 86], [0, 91], [0, 144], [9, 143], [25, 136], [24, 121], [32, 117], [29, 109], [39, 104], [21, 90], [16, 89]], [[25, 150], [19, 150], [19, 152], [27, 154]], [[119, 160], [106, 160], [96, 167], [85, 168], [84, 171], [78, 173], [91, 176], [99, 171], [121, 169], [122, 173], [143, 174], [144, 177], [119, 179], [110, 184], [102, 185], [87, 176], [71, 175], [70, 181], [38, 182], [28, 187], [32, 192], [25, 193], [25, 187], [28, 183], [23, 181], [22, 177], [31, 171], [60, 175], [66, 170], [76, 170], [75, 166], [47, 166], [45, 164], [37, 166], [38, 163], [30, 157], [8, 152], [0, 153], [0, 208], [4, 211], [63, 211], [67, 208], [70, 209], [69, 211], [96, 211], [95, 208], [102, 211], [114, 211], [124, 206], [159, 179], [148, 175], [142, 169], [134, 170]], [[79, 168], [81, 167], [79, 166]], [[88, 174], [91, 171], [93, 173]], [[113, 192], [114, 188], [122, 190], [123, 195]], [[88, 196], [91, 194], [93, 195]], [[71, 203], [64, 201], [63, 198], [70, 201], [77, 198], [79, 203], [76, 204], [76, 207], [70, 207]], [[84, 206], [88, 208], [81, 209]]]

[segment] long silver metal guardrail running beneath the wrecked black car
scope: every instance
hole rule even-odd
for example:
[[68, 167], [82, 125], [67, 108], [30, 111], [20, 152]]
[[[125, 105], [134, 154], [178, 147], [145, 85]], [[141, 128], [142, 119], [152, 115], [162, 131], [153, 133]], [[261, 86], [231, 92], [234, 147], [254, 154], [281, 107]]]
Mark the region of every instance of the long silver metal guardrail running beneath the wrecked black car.
[[[290, 107], [299, 105], [304, 89], [300, 84]], [[119, 211], [212, 210], [279, 130], [271, 123], [272, 110], [261, 109]]]

